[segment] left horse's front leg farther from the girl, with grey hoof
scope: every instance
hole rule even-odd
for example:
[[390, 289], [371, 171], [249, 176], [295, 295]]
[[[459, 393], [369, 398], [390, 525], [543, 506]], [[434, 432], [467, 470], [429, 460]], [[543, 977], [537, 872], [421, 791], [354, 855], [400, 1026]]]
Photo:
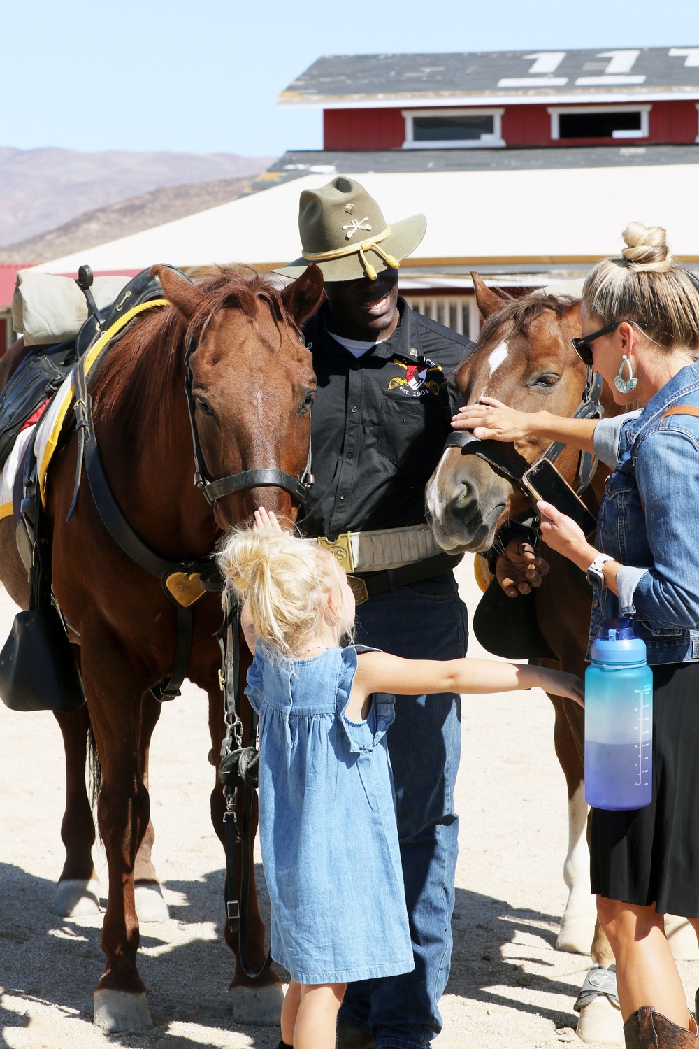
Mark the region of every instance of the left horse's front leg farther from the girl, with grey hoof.
[[93, 992], [94, 1023], [108, 1031], [152, 1027], [138, 973], [139, 943], [133, 873], [150, 816], [138, 753], [143, 689], [131, 661], [107, 630], [83, 637], [83, 682], [102, 765], [97, 820], [109, 869], [102, 927], [105, 971]]

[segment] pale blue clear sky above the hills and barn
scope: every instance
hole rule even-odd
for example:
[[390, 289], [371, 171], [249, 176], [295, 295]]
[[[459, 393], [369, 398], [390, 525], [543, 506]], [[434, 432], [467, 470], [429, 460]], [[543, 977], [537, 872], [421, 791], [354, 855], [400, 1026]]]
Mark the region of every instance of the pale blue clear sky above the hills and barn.
[[699, 44], [699, 0], [0, 0], [0, 146], [270, 156], [322, 146], [279, 91], [321, 55]]

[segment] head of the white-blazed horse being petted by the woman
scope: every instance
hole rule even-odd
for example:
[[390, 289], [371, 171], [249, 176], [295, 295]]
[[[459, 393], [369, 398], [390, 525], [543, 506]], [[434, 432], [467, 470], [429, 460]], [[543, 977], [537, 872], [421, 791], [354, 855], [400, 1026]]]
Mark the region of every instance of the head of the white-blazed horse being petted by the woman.
[[[463, 403], [486, 395], [520, 411], [572, 415], [587, 378], [570, 342], [581, 331], [580, 301], [538, 293], [512, 299], [472, 276], [485, 324], [456, 377]], [[514, 447], [533, 463], [547, 444], [527, 437]], [[576, 451], [565, 449], [555, 464], [573, 487], [577, 461]], [[435, 537], [450, 552], [487, 550], [505, 520], [529, 506], [519, 488], [461, 448], [444, 450], [425, 497]]]

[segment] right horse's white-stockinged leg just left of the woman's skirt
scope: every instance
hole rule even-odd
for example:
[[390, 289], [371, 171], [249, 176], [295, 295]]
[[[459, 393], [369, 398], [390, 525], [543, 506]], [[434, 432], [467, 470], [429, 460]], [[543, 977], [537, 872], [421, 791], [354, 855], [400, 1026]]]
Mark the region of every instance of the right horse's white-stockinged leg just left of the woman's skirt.
[[568, 900], [555, 946], [578, 955], [590, 952], [596, 909], [590, 891], [590, 854], [587, 844], [588, 807], [585, 801], [585, 766], [575, 743], [564, 702], [549, 697], [555, 712], [553, 746], [568, 788], [568, 854], [563, 877]]

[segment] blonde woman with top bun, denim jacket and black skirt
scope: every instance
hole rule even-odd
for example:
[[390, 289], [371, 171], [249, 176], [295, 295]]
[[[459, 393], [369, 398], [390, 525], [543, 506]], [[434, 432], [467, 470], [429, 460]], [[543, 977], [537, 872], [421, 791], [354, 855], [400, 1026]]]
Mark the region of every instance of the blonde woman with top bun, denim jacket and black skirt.
[[617, 404], [642, 410], [597, 423], [485, 398], [453, 425], [483, 438], [564, 441], [614, 467], [594, 545], [544, 502], [541, 532], [595, 582], [590, 639], [604, 620], [633, 617], [653, 667], [653, 801], [593, 810], [592, 891], [628, 1049], [684, 1049], [699, 1037], [662, 916], [699, 930], [699, 284], [673, 261], [663, 229], [632, 222], [622, 236], [621, 256], [585, 281], [573, 345]]

